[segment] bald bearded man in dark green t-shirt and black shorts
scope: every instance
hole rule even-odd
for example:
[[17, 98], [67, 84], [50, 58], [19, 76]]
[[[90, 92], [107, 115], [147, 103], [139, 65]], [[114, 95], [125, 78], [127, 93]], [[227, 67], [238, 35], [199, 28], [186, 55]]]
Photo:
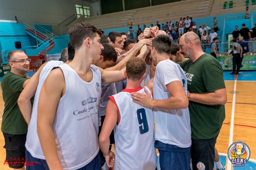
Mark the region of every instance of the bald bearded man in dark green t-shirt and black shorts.
[[192, 166], [213, 169], [214, 147], [227, 102], [223, 70], [216, 58], [203, 52], [195, 33], [184, 34], [179, 46], [183, 56], [189, 58], [179, 64], [188, 82]]

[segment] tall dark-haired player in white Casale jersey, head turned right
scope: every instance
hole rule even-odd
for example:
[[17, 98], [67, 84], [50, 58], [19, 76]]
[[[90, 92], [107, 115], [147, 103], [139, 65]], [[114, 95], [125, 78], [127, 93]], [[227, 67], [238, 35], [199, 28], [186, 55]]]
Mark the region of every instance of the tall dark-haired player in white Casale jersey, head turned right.
[[42, 86], [37, 132], [49, 169], [101, 170], [97, 136], [101, 82], [125, 78], [125, 69], [104, 71], [91, 65], [100, 59], [102, 33], [89, 23], [75, 24], [69, 30], [74, 59], [52, 70]]

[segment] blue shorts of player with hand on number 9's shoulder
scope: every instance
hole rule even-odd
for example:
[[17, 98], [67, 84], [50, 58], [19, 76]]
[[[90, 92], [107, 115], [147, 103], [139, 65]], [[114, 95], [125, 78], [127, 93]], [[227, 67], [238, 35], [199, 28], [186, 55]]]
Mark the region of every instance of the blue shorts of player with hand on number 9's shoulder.
[[190, 148], [181, 148], [176, 145], [166, 144], [158, 140], [155, 147], [159, 151], [161, 170], [190, 170]]

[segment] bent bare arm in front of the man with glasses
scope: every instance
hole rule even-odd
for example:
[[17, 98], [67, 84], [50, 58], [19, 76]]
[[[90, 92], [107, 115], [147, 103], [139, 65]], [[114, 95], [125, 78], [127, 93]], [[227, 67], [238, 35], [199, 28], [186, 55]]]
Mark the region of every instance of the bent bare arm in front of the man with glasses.
[[[23, 87], [24, 89], [22, 90], [22, 92], [19, 96], [19, 99], [18, 99], [18, 105], [19, 105], [20, 111], [28, 125], [31, 120], [31, 114], [32, 114], [32, 106], [31, 106], [30, 99], [36, 93], [36, 89], [37, 89], [38, 81], [39, 81], [39, 75], [40, 75], [43, 67], [46, 65], [46, 63], [44, 63], [38, 69], [38, 71], [29, 79], [29, 81], [28, 80], [25, 81], [28, 83], [25, 85], [26, 86], [25, 88]], [[23, 84], [23, 86], [24, 86], [24, 84]]]

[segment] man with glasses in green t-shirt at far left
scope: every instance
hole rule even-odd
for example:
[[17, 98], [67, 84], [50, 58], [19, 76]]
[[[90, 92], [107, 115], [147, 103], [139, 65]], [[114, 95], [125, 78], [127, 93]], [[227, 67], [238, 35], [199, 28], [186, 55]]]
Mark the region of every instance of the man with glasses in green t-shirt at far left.
[[[4, 100], [1, 130], [5, 139], [5, 163], [8, 161], [9, 167], [25, 170], [22, 162], [25, 162], [25, 141], [28, 125], [20, 112], [17, 101], [21, 91], [29, 81], [26, 73], [29, 70], [31, 59], [23, 51], [13, 50], [8, 53], [7, 61], [11, 71], [7, 72], [1, 81]], [[33, 100], [34, 98], [31, 99], [32, 105]], [[18, 163], [12, 163], [14, 161]]]

